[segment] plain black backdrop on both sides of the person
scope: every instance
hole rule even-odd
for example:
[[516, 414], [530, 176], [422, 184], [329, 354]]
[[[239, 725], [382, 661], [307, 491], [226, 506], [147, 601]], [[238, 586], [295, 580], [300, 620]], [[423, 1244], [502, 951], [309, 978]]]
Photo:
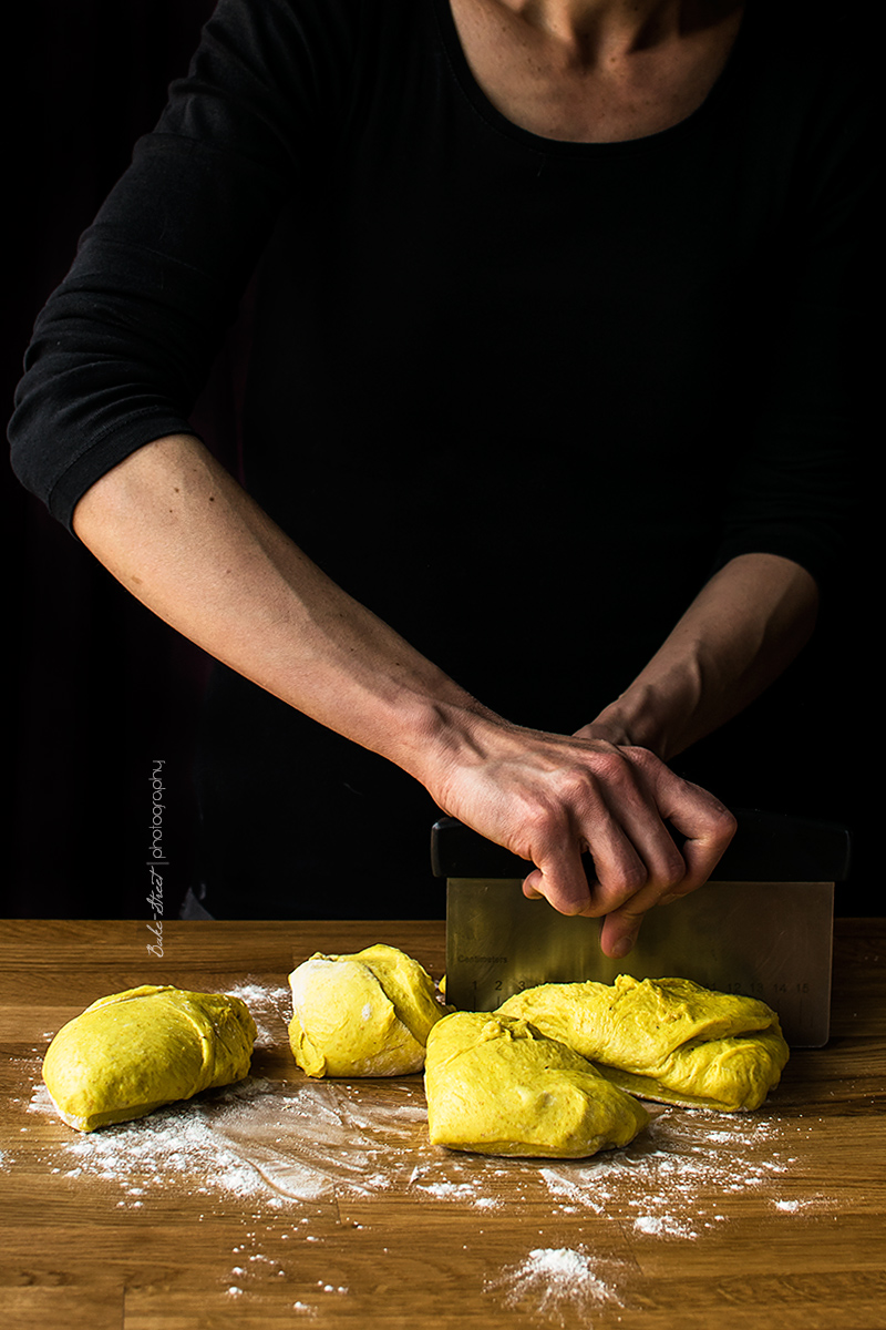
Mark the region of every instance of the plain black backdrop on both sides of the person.
[[[211, 0], [39, 0], [15, 51], [7, 116], [13, 239], [3, 342], [7, 414], [33, 318], [65, 275], [78, 234], [183, 73]], [[236, 384], [247, 321], [232, 330], [194, 415], [238, 469]], [[7, 698], [15, 799], [7, 916], [147, 918], [155, 759], [163, 761], [163, 915], [193, 879], [190, 754], [206, 658], [124, 592], [5, 472], [8, 605], [16, 674]], [[869, 487], [871, 488], [871, 487]], [[871, 500], [873, 513], [873, 500]], [[873, 863], [879, 720], [869, 602], [873, 524], [858, 524], [845, 593], [814, 645], [727, 726], [711, 763], [727, 802], [846, 822], [850, 880], [838, 912], [882, 914]], [[873, 729], [875, 726], [875, 729]], [[676, 766], [693, 774], [705, 745]]]

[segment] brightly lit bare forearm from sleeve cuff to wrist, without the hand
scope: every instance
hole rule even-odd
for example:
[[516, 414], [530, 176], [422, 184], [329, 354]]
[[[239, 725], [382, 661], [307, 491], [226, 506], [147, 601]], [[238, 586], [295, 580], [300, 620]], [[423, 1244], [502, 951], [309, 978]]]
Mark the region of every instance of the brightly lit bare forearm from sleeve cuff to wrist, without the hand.
[[332, 583], [194, 438], [94, 484], [74, 531], [149, 609], [320, 724], [426, 779], [441, 713], [482, 708]]

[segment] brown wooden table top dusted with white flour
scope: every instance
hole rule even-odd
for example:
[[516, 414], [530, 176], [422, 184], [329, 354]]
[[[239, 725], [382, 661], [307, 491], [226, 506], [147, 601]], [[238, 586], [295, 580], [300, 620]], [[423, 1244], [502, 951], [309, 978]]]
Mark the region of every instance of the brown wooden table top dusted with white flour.
[[[662, 1109], [584, 1161], [432, 1148], [420, 1076], [311, 1081], [286, 978], [442, 923], [0, 924], [5, 1330], [886, 1327], [886, 920], [837, 920], [832, 1040], [753, 1115]], [[141, 983], [239, 992], [251, 1077], [81, 1134], [40, 1079], [60, 1025]]]

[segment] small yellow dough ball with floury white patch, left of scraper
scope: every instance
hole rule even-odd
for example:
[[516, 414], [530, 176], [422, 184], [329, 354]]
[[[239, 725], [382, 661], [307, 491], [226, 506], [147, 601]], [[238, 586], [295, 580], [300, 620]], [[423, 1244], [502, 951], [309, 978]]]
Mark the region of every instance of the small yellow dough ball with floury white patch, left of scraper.
[[290, 975], [290, 1044], [308, 1076], [406, 1076], [425, 1064], [445, 1009], [430, 975], [379, 943], [353, 955], [316, 952]]

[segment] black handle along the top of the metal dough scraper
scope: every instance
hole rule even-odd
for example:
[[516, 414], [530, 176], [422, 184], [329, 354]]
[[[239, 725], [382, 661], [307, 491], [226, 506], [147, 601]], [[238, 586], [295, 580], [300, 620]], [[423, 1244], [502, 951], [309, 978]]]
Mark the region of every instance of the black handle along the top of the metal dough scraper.
[[[850, 835], [838, 822], [733, 809], [739, 827], [713, 870], [717, 882], [843, 882]], [[685, 837], [671, 830], [677, 846]], [[592, 868], [590, 855], [583, 857]], [[438, 878], [525, 878], [526, 859], [458, 822], [441, 818], [430, 831], [430, 863]]]

